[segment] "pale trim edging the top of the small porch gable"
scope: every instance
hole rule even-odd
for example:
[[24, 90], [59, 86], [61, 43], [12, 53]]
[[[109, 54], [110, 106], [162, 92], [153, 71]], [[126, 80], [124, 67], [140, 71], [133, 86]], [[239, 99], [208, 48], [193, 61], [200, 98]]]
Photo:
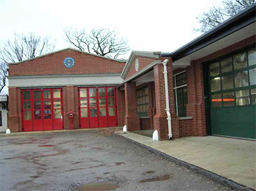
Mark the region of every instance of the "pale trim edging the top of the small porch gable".
[[125, 79], [125, 76], [129, 72], [129, 69], [131, 68], [132, 62], [134, 61], [135, 56], [141, 56], [141, 57], [150, 57], [150, 58], [156, 58], [159, 59], [159, 55], [161, 52], [147, 52], [147, 51], [136, 51], [132, 50], [125, 66], [124, 69], [121, 73], [122, 79]]

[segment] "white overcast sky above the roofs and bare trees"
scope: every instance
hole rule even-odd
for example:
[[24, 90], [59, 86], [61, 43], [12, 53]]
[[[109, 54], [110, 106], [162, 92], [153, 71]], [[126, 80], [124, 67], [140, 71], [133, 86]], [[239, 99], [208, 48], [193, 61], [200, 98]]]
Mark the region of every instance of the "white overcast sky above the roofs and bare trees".
[[56, 40], [60, 50], [70, 46], [66, 27], [105, 27], [127, 38], [132, 50], [172, 52], [200, 36], [192, 32], [196, 16], [221, 1], [0, 0], [0, 43], [33, 32]]

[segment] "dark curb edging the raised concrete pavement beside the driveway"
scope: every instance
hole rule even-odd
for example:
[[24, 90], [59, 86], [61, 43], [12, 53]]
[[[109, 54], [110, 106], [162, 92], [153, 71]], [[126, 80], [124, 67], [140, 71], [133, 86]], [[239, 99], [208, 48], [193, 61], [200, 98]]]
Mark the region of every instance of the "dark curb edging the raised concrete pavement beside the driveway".
[[149, 146], [146, 146], [145, 144], [141, 144], [140, 142], [133, 141], [132, 139], [124, 137], [120, 134], [116, 134], [116, 135], [122, 137], [122, 139], [125, 139], [126, 141], [132, 142], [133, 144], [136, 144], [136, 145], [140, 146], [141, 148], [147, 149], [151, 153], [154, 153], [154, 154], [156, 154], [156, 155], [158, 155], [158, 156], [160, 156], [160, 157], [162, 157], [162, 158], [164, 158], [164, 159], [166, 159], [170, 162], [174, 162], [175, 164], [179, 164], [182, 167], [186, 167], [186, 168], [190, 169], [193, 172], [196, 172], [198, 174], [202, 174], [203, 176], [206, 176], [207, 178], [209, 178], [211, 180], [218, 181], [218, 183], [221, 183], [222, 185], [233, 188], [235, 190], [256, 191], [253, 188], [246, 187], [245, 185], [241, 185], [241, 184], [237, 183], [236, 181], [233, 181], [233, 180], [230, 180], [230, 179], [225, 178], [223, 176], [220, 176], [218, 174], [215, 174], [214, 172], [207, 171], [207, 170], [202, 169], [201, 167], [198, 167], [196, 165], [189, 164], [188, 162], [184, 162], [182, 160], [179, 160], [178, 158], [167, 155], [166, 153], [158, 151], [157, 149], [150, 148]]

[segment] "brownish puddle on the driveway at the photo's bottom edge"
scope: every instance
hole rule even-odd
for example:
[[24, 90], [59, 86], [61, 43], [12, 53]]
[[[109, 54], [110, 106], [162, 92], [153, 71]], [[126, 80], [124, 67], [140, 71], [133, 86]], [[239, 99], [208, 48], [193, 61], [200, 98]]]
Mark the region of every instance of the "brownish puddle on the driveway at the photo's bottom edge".
[[113, 183], [90, 183], [81, 185], [77, 190], [115, 190], [118, 185]]

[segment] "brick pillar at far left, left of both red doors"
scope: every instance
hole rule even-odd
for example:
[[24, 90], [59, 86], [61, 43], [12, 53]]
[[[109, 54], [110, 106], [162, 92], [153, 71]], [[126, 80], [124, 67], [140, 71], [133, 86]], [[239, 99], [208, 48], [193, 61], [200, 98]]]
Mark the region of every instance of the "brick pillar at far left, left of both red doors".
[[[19, 97], [18, 97], [19, 95]], [[8, 128], [11, 132], [22, 131], [21, 126], [21, 109], [20, 109], [20, 89], [9, 88], [9, 100], [8, 100]]]

